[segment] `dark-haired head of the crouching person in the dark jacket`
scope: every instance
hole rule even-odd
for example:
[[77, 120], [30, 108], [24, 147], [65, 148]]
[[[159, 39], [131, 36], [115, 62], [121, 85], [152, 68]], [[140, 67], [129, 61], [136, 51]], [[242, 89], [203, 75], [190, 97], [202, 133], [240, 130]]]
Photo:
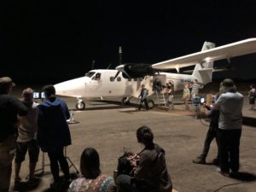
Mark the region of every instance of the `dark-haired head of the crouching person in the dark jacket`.
[[148, 126], [141, 126], [137, 129], [137, 142], [145, 146], [153, 143], [154, 135]]

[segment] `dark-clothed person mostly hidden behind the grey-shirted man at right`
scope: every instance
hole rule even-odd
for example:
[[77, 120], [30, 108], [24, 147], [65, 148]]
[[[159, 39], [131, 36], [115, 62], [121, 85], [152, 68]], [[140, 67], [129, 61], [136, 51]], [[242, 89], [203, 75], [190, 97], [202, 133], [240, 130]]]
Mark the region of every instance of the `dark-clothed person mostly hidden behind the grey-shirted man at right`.
[[[218, 99], [218, 94], [215, 95]], [[192, 160], [193, 163], [196, 164], [206, 164], [207, 154], [210, 149], [210, 145], [212, 143], [212, 140], [217, 137], [217, 131], [218, 131], [218, 117], [219, 117], [219, 111], [216, 108], [211, 108], [211, 106], [206, 106], [210, 111], [207, 113], [207, 118], [210, 118], [210, 125], [207, 131], [207, 136], [204, 143], [204, 148], [200, 154], [195, 160]], [[217, 142], [217, 139], [216, 139]], [[212, 160], [212, 164], [218, 165], [218, 155], [216, 158]]]

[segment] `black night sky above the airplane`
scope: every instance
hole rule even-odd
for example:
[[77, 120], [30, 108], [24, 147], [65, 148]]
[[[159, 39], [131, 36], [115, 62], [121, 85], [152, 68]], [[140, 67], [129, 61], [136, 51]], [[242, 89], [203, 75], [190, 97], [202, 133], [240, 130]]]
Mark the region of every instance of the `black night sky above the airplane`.
[[[1, 3], [0, 76], [54, 84], [83, 76], [93, 60], [95, 68], [116, 67], [119, 46], [123, 62], [155, 63], [197, 52], [206, 40], [256, 37], [253, 0], [40, 2]], [[239, 73], [218, 77], [256, 77], [255, 54], [231, 63]]]

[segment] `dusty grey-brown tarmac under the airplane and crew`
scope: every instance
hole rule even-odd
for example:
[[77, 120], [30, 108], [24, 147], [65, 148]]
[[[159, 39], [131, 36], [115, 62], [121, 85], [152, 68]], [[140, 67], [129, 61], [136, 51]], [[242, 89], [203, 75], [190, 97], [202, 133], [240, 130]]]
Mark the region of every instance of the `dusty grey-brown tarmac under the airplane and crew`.
[[[21, 90], [15, 90], [20, 96]], [[207, 94], [202, 90], [201, 94]], [[154, 142], [166, 150], [166, 164], [172, 177], [173, 188], [178, 192], [254, 192], [256, 191], [256, 111], [249, 110], [247, 91], [245, 96], [240, 147], [240, 177], [224, 177], [217, 172], [218, 166], [209, 163], [217, 155], [217, 145], [213, 141], [207, 156], [207, 165], [192, 163], [203, 148], [209, 123], [204, 118], [204, 108], [195, 118], [194, 106], [185, 110], [181, 96], [176, 95], [174, 109], [157, 106], [151, 110], [137, 110], [137, 100], [131, 106], [121, 106], [120, 99], [108, 102], [86, 102], [84, 111], [75, 110], [76, 99], [63, 97], [69, 109], [73, 109], [75, 123], [69, 124], [72, 145], [67, 147], [70, 172], [79, 176], [79, 159], [84, 148], [93, 147], [100, 154], [102, 173], [113, 176], [119, 156], [124, 150], [139, 152], [143, 146], [137, 143], [136, 131], [142, 125], [150, 127]], [[38, 183], [32, 188], [14, 189], [14, 163], [10, 191], [50, 191], [52, 175], [49, 172], [49, 159], [40, 152], [37, 174]], [[44, 172], [42, 172], [44, 168]], [[28, 157], [21, 166], [20, 177], [25, 180], [28, 174]], [[62, 173], [60, 173], [62, 174]]]

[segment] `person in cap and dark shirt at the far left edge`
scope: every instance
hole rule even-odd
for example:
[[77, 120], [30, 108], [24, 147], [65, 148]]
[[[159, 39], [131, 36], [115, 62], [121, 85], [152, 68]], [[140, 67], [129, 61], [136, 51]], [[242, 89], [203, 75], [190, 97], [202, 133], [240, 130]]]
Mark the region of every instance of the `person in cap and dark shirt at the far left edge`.
[[5, 192], [9, 191], [19, 119], [27, 114], [26, 106], [10, 95], [13, 86], [11, 78], [0, 78], [0, 191]]

